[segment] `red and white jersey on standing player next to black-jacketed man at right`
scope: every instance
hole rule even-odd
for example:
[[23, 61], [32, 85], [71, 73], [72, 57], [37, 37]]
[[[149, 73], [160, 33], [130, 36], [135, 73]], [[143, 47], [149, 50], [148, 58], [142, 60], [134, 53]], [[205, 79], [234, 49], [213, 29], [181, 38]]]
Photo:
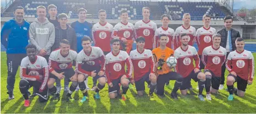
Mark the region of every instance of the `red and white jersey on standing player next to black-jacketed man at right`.
[[213, 45], [212, 37], [216, 33], [215, 28], [209, 27], [201, 27], [198, 28], [196, 33], [196, 41], [198, 45], [198, 55], [202, 55], [204, 48]]

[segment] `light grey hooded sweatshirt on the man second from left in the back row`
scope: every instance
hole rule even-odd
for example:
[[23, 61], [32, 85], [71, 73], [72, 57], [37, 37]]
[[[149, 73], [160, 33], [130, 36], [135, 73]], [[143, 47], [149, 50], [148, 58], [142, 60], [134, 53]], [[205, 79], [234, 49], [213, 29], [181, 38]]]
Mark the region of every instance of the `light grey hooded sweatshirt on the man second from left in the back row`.
[[51, 54], [51, 47], [55, 41], [54, 25], [49, 22], [47, 18], [43, 23], [39, 22], [38, 18], [36, 18], [35, 21], [30, 24], [29, 41], [36, 45], [37, 54], [43, 48], [46, 49], [46, 55]]

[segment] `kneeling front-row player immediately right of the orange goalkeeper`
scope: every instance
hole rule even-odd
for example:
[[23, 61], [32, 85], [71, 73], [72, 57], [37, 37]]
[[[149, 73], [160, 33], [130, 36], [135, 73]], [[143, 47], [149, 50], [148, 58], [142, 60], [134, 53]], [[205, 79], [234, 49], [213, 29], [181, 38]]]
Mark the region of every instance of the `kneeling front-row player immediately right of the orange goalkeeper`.
[[[188, 45], [188, 37], [186, 33], [180, 36], [181, 46], [174, 52], [174, 57], [177, 59], [175, 70], [184, 78], [180, 87], [181, 94], [187, 94], [187, 89], [191, 87], [191, 79], [194, 79], [194, 81], [198, 81], [199, 85], [198, 98], [204, 101], [202, 92], [204, 89], [205, 75], [199, 70], [200, 59], [197, 55], [197, 50], [191, 45]], [[193, 59], [196, 67], [193, 65]]]

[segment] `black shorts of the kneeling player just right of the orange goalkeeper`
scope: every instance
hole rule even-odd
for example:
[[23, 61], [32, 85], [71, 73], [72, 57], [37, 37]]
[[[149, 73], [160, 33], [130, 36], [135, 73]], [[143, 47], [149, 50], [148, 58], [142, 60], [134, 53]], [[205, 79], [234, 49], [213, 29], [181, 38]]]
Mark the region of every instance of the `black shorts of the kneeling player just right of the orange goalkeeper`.
[[194, 82], [198, 82], [199, 79], [197, 78], [198, 73], [201, 71], [194, 73], [194, 70], [188, 75], [187, 77], [183, 78], [182, 84], [180, 86], [180, 90], [185, 90], [191, 87], [191, 79], [194, 80]]

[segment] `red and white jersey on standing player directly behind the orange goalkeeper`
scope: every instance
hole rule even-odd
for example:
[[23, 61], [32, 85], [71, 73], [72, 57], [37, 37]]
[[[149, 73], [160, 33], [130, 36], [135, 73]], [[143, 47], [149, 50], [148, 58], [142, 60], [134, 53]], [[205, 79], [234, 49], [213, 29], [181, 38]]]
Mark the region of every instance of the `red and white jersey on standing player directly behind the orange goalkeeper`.
[[159, 40], [159, 35], [161, 35], [161, 34], [164, 34], [164, 35], [166, 35], [166, 36], [168, 36], [168, 39], [167, 39], [167, 44], [166, 44], [166, 46], [168, 47], [168, 48], [171, 48], [171, 49], [174, 49], [174, 44], [173, 44], [173, 42], [174, 42], [174, 37], [175, 37], [175, 32], [174, 32], [174, 30], [172, 29], [172, 28], [163, 28], [163, 26], [162, 27], [159, 27], [159, 28], [157, 28], [157, 30], [155, 31], [155, 42], [156, 42], [156, 47], [159, 47], [160, 46], [160, 44], [159, 44], [159, 42], [158, 42], [158, 40]]

